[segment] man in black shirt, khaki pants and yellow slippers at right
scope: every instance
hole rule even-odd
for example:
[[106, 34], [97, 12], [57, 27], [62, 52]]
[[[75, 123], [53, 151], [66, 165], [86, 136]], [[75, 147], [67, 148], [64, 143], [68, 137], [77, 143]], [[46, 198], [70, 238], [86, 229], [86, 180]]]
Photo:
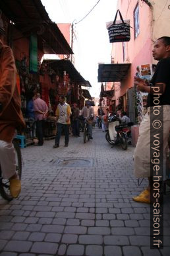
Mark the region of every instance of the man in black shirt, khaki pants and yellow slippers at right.
[[[148, 108], [140, 124], [138, 142], [134, 151], [134, 175], [138, 178], [148, 177], [149, 185], [146, 190], [142, 191], [138, 196], [134, 196], [132, 199], [136, 202], [146, 203], [150, 203], [150, 190], [153, 177], [150, 162], [153, 163], [154, 155], [151, 161], [150, 150], [152, 136], [151, 124], [154, 121], [154, 111], [156, 112], [155, 119], [161, 120], [163, 124], [163, 135], [159, 143], [159, 151], [162, 150], [163, 152], [163, 179], [166, 179], [166, 146], [170, 129], [170, 37], [163, 36], [157, 39], [152, 53], [154, 59], [159, 62], [152, 77], [151, 85], [148, 86], [143, 79], [134, 77], [134, 84], [137, 85], [138, 91], [148, 93]], [[162, 116], [160, 116], [160, 109], [162, 109]], [[157, 134], [159, 134], [159, 131], [157, 131]], [[156, 152], [155, 155], [158, 155], [158, 153]]]

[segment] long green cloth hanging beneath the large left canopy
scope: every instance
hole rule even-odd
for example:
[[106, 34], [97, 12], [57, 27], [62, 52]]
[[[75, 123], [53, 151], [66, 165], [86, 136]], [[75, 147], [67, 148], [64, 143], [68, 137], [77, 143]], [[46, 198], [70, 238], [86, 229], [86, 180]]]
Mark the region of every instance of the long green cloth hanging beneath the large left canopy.
[[29, 64], [30, 73], [38, 72], [38, 46], [37, 46], [37, 36], [30, 36], [30, 64]]

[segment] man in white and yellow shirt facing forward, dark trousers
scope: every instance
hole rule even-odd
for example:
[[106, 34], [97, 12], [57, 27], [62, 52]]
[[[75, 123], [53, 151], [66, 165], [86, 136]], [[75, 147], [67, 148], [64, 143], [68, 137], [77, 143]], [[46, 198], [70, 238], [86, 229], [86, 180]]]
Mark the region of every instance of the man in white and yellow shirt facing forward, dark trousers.
[[61, 133], [64, 130], [65, 132], [65, 147], [69, 146], [69, 126], [71, 124], [71, 107], [68, 103], [65, 102], [65, 97], [59, 97], [59, 105], [56, 110], [57, 116], [57, 133], [55, 136], [55, 145], [53, 148], [59, 148], [59, 141], [61, 138]]

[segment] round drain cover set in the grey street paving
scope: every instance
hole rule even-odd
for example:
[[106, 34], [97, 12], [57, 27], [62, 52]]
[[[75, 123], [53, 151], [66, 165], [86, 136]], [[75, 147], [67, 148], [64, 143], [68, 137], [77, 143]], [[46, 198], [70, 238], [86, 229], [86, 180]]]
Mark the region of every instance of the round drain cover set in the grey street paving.
[[92, 167], [92, 159], [58, 159], [53, 164], [61, 167]]

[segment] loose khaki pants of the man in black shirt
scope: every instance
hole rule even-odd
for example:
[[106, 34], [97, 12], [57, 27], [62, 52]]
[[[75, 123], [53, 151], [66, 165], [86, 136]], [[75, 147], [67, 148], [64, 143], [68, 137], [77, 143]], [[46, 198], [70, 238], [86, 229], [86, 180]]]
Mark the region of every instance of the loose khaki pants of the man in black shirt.
[[[151, 107], [152, 108], [152, 107]], [[151, 108], [148, 108], [144, 119], [139, 126], [139, 137], [134, 150], [134, 175], [137, 178], [150, 177], [150, 119]], [[154, 114], [152, 114], [153, 116]], [[160, 120], [160, 116], [154, 116]], [[162, 120], [161, 120], [162, 122]], [[166, 177], [166, 149], [170, 130], [170, 105], [163, 106], [163, 141], [160, 142], [159, 150], [163, 147], [163, 179]], [[159, 131], [157, 132], [159, 133]]]

